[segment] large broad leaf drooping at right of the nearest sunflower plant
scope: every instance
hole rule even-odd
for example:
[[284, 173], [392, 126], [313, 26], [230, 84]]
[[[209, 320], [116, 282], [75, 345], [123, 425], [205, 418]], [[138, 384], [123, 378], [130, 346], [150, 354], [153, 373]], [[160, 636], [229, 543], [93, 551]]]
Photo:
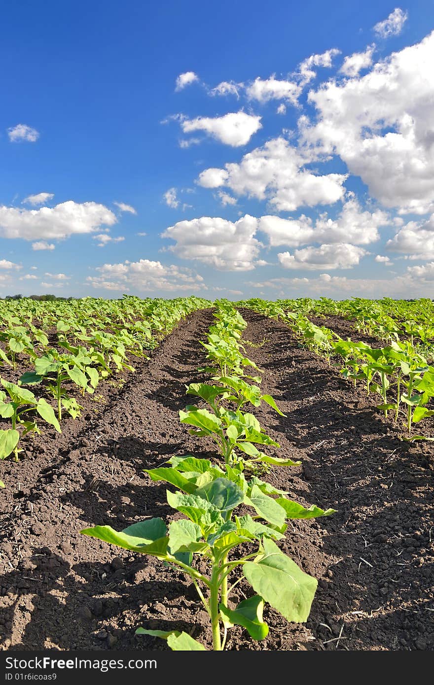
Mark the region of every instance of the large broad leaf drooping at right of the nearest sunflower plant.
[[285, 619], [307, 621], [317, 588], [316, 578], [304, 573], [278, 546], [264, 538], [264, 553], [258, 562], [245, 562], [243, 573], [258, 595]]

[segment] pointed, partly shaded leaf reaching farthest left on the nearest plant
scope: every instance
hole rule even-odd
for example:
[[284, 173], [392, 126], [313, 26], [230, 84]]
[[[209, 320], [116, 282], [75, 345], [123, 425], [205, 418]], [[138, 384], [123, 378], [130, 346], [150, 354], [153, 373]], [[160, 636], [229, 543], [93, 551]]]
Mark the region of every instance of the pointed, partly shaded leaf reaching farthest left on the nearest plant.
[[[147, 547], [150, 547], [152, 543], [158, 542], [161, 543], [159, 546], [162, 552], [160, 556], [165, 555], [169, 543], [169, 538], [165, 537], [167, 526], [162, 519], [139, 521], [121, 532], [113, 530], [110, 525], [95, 525], [93, 528], [81, 530], [80, 533], [91, 538], [104, 540], [104, 542], [111, 545], [123, 547], [123, 549], [144, 553], [147, 553]], [[162, 541], [165, 541], [165, 544]]]

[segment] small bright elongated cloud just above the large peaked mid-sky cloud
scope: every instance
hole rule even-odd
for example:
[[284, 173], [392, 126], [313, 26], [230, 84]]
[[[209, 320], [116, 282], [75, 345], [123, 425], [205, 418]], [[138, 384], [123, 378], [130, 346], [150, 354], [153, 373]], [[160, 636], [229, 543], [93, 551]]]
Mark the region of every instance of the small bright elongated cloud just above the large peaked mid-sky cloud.
[[245, 114], [240, 110], [224, 116], [197, 116], [196, 119], [184, 119], [181, 127], [184, 133], [204, 131], [225, 145], [239, 147], [248, 143], [262, 125], [261, 116]]

